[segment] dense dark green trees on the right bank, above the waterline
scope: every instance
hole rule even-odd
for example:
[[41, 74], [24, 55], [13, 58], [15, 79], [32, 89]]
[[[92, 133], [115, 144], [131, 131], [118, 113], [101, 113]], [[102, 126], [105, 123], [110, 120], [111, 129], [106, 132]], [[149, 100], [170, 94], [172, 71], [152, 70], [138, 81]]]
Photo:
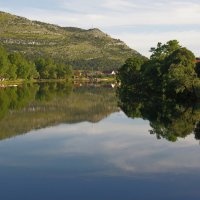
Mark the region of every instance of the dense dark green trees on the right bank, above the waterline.
[[196, 99], [199, 97], [200, 65], [194, 54], [171, 40], [151, 48], [150, 59], [132, 57], [119, 69], [121, 87], [148, 95]]

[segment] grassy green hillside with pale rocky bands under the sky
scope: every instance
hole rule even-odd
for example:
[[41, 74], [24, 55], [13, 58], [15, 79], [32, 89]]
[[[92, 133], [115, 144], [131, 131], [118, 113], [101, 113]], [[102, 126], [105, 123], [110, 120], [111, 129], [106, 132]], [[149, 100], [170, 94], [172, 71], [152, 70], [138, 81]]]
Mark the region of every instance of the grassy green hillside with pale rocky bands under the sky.
[[99, 29], [59, 27], [0, 12], [0, 44], [33, 59], [51, 56], [78, 69], [116, 69], [138, 52]]

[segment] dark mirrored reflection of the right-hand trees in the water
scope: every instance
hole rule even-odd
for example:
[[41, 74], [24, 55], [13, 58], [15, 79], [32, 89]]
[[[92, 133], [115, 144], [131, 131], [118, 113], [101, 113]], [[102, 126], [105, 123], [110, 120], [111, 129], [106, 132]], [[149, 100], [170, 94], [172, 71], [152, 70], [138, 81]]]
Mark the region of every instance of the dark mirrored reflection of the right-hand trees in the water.
[[200, 139], [200, 106], [187, 99], [170, 99], [147, 91], [118, 89], [119, 106], [128, 117], [149, 120], [150, 134], [176, 141], [194, 133]]

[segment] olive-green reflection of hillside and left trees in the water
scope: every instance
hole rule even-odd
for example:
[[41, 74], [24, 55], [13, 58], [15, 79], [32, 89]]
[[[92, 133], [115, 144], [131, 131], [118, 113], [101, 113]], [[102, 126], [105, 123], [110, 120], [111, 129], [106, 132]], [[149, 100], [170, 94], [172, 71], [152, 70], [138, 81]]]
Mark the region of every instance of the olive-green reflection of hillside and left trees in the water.
[[115, 90], [43, 83], [0, 91], [0, 138], [60, 123], [98, 122], [118, 111]]

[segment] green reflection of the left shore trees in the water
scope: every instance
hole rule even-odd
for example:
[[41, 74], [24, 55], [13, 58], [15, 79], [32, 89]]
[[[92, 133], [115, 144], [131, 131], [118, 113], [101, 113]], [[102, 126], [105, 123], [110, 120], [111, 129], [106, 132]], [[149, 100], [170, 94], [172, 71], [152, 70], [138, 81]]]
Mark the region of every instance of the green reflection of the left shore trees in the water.
[[48, 101], [56, 95], [69, 95], [72, 85], [69, 83], [24, 84], [18, 87], [1, 88], [0, 118], [12, 110], [20, 110], [33, 100]]

